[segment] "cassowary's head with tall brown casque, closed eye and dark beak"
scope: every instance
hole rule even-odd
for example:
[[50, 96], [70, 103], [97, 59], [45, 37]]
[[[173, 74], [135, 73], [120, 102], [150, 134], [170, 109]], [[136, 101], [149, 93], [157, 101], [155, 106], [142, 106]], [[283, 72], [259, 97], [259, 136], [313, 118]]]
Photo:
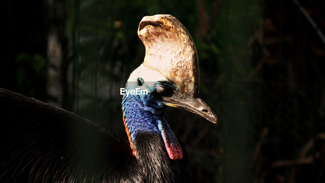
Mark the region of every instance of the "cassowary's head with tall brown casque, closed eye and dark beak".
[[214, 112], [198, 97], [198, 56], [184, 25], [171, 15], [146, 16], [139, 24], [138, 35], [146, 55], [130, 75], [126, 89], [147, 90], [148, 95], [137, 98], [155, 109], [180, 108], [217, 123]]

